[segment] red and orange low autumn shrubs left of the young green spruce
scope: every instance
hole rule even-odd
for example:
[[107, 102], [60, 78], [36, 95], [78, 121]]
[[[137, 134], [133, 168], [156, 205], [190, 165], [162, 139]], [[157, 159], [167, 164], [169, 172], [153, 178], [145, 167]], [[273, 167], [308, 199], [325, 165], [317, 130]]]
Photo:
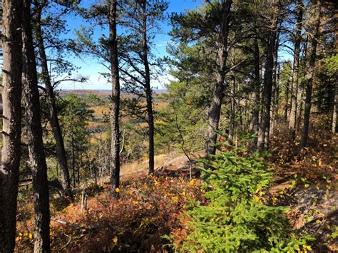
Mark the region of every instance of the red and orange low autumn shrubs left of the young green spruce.
[[[181, 212], [187, 202], [203, 200], [200, 180], [196, 179], [149, 176], [125, 180], [119, 189], [120, 200], [111, 197], [109, 185], [94, 188], [99, 192], [95, 197], [89, 197], [87, 210], [81, 211], [78, 203], [52, 218], [51, 242], [56, 252], [163, 249], [168, 243], [163, 235], [180, 227]], [[32, 226], [26, 229], [32, 229]], [[29, 231], [26, 230], [28, 234]], [[19, 237], [18, 242], [19, 250], [33, 247], [29, 237]]]

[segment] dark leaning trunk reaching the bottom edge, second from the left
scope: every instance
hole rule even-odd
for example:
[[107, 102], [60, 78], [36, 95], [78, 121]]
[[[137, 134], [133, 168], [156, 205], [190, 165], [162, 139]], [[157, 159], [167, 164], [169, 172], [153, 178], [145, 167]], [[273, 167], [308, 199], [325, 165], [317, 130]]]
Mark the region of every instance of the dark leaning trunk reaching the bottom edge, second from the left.
[[30, 0], [24, 0], [22, 40], [26, 137], [29, 147], [29, 161], [33, 174], [34, 252], [50, 252], [47, 166], [43, 150], [38, 78], [31, 33], [30, 4]]

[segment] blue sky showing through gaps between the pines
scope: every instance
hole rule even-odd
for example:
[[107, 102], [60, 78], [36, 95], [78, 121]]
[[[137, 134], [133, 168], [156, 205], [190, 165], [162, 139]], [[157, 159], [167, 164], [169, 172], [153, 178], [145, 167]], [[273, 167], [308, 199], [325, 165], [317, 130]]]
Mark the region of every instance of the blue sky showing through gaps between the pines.
[[[89, 6], [93, 2], [92, 0], [85, 0], [83, 1], [84, 6]], [[183, 12], [186, 9], [195, 9], [196, 6], [201, 5], [200, 0], [171, 0], [168, 10], [166, 11], [167, 14], [172, 12]], [[81, 25], [88, 26], [83, 20], [81, 20], [78, 16], [69, 16], [67, 19], [68, 29], [71, 30], [65, 36], [75, 37], [74, 29], [79, 29]], [[168, 36], [168, 32], [170, 31], [171, 27], [167, 24], [161, 24], [161, 33], [155, 37], [155, 48], [153, 51], [158, 56], [165, 56], [166, 55], [166, 44], [170, 41], [170, 36]], [[107, 31], [96, 29], [96, 37], [100, 36], [101, 34], [106, 34]], [[78, 70], [79, 75], [88, 76], [89, 80], [87, 83], [61, 83], [58, 88], [61, 89], [93, 89], [93, 90], [107, 90], [111, 89], [111, 84], [109, 84], [100, 73], [105, 72], [106, 69], [98, 63], [95, 58], [91, 57], [83, 57], [83, 58], [76, 58], [71, 56], [68, 58], [68, 61], [71, 61], [76, 66], [81, 67]], [[168, 83], [168, 75], [167, 73], [163, 73], [163, 76], [159, 78], [160, 81], [153, 81], [153, 87], [164, 88], [164, 84]]]

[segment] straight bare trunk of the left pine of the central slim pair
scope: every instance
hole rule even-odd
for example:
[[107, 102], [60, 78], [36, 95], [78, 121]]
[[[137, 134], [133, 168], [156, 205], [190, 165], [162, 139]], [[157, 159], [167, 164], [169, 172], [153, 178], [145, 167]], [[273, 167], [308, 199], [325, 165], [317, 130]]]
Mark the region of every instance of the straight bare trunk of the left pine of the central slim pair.
[[120, 187], [120, 79], [118, 76], [118, 41], [116, 37], [117, 1], [111, 0], [109, 11], [109, 50], [111, 53], [111, 193], [119, 197]]

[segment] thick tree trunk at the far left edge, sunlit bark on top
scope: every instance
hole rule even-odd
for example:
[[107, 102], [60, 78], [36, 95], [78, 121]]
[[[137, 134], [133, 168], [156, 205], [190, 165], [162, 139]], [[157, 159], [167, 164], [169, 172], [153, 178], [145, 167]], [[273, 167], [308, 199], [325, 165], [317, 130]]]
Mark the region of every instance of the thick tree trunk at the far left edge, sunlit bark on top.
[[2, 3], [2, 150], [0, 169], [0, 249], [14, 252], [16, 198], [21, 145], [22, 1]]

